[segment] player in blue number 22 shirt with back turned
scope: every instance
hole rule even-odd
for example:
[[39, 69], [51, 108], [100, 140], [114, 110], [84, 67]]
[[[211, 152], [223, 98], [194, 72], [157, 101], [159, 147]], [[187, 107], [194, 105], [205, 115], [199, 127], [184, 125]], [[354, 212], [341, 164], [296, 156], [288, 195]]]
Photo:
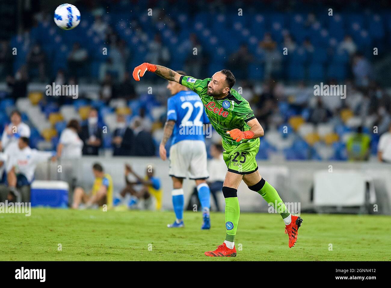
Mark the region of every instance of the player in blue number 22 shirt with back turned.
[[[183, 71], [176, 71], [186, 75]], [[167, 89], [171, 97], [167, 100], [167, 122], [164, 125], [163, 139], [159, 146], [161, 159], [167, 159], [165, 145], [172, 135], [170, 147], [170, 170], [172, 178], [172, 204], [176, 220], [167, 225], [170, 228], [183, 227], [183, 179], [194, 179], [198, 197], [203, 209], [201, 229], [210, 229], [210, 190], [206, 184], [209, 177], [206, 167], [206, 147], [203, 124], [209, 123], [204, 105], [199, 96], [187, 87], [169, 81]]]

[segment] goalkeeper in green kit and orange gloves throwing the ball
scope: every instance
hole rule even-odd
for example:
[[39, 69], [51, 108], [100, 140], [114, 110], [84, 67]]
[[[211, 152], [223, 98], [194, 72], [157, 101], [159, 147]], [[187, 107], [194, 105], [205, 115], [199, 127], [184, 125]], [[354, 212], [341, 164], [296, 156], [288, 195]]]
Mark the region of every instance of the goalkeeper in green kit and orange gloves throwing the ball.
[[[183, 76], [160, 65], [143, 63], [133, 71], [133, 78], [140, 81], [146, 71], [177, 82], [197, 93], [214, 129], [222, 137], [223, 157], [228, 167], [222, 192], [225, 198], [226, 238], [214, 251], [205, 252], [210, 257], [235, 257], [235, 235], [238, 228], [240, 207], [237, 188], [243, 180], [250, 190], [259, 193], [282, 216], [285, 233], [289, 236], [289, 248], [297, 240], [298, 229], [303, 221], [287, 210], [276, 189], [265, 181], [258, 172], [255, 156], [259, 150], [260, 137], [264, 130], [254, 116], [247, 100], [232, 89], [235, 77], [229, 70], [221, 70], [212, 78], [204, 80]], [[276, 207], [277, 205], [277, 207]]]

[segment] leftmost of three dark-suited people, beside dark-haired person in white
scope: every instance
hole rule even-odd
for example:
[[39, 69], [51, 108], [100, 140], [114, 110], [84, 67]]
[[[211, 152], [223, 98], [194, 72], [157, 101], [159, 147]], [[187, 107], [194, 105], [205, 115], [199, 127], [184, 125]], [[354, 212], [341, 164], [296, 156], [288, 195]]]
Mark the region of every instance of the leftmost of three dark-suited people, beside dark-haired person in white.
[[98, 124], [98, 111], [91, 109], [88, 123], [81, 127], [80, 139], [83, 140], [83, 155], [98, 155], [102, 146], [102, 128]]

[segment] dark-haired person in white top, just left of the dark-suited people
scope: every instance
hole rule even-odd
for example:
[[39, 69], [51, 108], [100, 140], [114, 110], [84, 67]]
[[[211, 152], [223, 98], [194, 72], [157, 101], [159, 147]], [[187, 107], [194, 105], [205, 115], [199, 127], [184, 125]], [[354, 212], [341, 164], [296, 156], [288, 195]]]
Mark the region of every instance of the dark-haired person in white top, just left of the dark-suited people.
[[75, 119], [69, 121], [66, 128], [61, 132], [57, 145], [57, 156], [61, 159], [80, 159], [83, 150], [83, 141], [80, 139], [79, 122]]

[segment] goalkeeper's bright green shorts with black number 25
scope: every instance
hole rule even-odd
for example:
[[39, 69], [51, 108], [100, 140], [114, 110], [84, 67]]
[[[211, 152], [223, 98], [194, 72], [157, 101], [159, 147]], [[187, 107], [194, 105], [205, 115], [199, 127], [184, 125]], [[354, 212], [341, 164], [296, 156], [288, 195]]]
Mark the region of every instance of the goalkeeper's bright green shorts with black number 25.
[[225, 150], [222, 152], [222, 156], [228, 171], [244, 175], [258, 170], [255, 156], [259, 150], [259, 143], [259, 138], [256, 138], [255, 141], [244, 142], [238, 146], [229, 145], [222, 141], [222, 146]]

